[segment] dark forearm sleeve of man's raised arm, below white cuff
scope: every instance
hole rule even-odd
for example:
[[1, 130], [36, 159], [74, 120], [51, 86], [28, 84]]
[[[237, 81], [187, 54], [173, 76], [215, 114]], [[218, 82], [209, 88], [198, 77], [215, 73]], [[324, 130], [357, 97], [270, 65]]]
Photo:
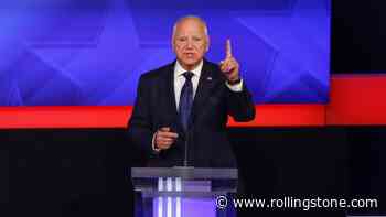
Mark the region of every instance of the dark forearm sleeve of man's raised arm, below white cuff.
[[227, 113], [236, 121], [246, 122], [254, 120], [256, 116], [255, 104], [245, 83], [242, 91], [232, 91], [227, 87], [226, 91]]

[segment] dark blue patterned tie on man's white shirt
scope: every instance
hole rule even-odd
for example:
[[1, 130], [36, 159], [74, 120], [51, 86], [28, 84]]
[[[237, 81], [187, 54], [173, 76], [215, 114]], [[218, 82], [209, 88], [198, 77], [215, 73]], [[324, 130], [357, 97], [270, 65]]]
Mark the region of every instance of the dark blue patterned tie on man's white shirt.
[[184, 131], [187, 130], [189, 116], [191, 115], [192, 105], [193, 105], [193, 84], [192, 84], [192, 72], [185, 72], [182, 74], [185, 77], [185, 84], [181, 89], [180, 95], [180, 105], [179, 105], [179, 115], [182, 127]]

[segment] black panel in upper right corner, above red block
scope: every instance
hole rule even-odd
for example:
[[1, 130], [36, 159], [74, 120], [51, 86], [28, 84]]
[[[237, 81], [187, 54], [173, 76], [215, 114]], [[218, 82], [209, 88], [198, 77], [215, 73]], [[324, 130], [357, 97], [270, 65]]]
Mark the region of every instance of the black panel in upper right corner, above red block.
[[386, 70], [386, 2], [332, 1], [331, 72], [368, 74]]

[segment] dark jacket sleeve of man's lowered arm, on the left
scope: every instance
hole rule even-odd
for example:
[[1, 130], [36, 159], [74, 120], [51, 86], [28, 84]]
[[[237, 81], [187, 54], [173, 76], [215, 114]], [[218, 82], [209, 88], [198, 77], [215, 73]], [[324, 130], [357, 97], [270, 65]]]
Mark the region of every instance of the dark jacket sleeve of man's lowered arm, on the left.
[[152, 122], [150, 112], [150, 93], [148, 80], [141, 76], [137, 88], [137, 98], [128, 123], [128, 134], [130, 141], [144, 151], [152, 153]]

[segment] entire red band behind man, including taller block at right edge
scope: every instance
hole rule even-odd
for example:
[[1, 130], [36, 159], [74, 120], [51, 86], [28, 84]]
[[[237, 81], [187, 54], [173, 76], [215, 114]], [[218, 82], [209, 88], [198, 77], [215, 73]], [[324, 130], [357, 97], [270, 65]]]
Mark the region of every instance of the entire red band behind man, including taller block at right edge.
[[[328, 105], [261, 105], [247, 123], [230, 127], [386, 124], [386, 75], [334, 76]], [[0, 129], [125, 128], [129, 106], [0, 107]]]

